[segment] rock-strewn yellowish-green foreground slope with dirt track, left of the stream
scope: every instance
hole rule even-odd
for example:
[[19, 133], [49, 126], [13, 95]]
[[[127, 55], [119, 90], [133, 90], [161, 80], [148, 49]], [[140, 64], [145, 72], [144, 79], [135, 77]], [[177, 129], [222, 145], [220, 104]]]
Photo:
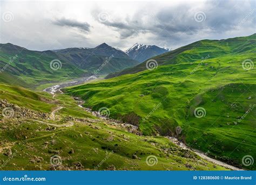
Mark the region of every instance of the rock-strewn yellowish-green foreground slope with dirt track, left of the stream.
[[68, 95], [0, 89], [1, 170], [226, 170], [163, 136], [96, 119]]

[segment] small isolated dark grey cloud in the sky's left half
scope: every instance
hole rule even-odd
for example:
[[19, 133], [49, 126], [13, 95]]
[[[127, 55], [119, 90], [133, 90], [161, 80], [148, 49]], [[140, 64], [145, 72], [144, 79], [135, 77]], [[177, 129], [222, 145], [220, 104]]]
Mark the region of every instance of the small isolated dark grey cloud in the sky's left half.
[[91, 25], [86, 22], [78, 22], [75, 19], [67, 19], [65, 17], [55, 20], [53, 24], [58, 26], [68, 26], [70, 28], [78, 28], [84, 32], [89, 32], [91, 28]]

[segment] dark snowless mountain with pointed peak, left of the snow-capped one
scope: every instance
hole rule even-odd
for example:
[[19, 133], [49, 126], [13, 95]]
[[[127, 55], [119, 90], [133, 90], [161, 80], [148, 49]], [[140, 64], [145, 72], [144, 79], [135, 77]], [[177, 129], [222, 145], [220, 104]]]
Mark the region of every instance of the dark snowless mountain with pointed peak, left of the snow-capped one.
[[[139, 64], [137, 60], [130, 59], [125, 52], [106, 43], [95, 48], [73, 47], [55, 50], [55, 52], [83, 70], [95, 73], [96, 70], [100, 69], [97, 74], [112, 73]], [[102, 67], [102, 65], [105, 67]]]

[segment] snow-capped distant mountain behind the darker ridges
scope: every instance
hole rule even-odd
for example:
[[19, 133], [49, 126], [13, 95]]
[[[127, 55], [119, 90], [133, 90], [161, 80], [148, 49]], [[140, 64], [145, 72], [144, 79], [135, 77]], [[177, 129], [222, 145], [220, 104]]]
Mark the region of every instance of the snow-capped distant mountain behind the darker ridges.
[[149, 58], [158, 56], [159, 54], [163, 54], [169, 51], [171, 50], [168, 48], [161, 48], [156, 45], [144, 45], [136, 43], [128, 50], [126, 50], [125, 53], [131, 59], [143, 62]]

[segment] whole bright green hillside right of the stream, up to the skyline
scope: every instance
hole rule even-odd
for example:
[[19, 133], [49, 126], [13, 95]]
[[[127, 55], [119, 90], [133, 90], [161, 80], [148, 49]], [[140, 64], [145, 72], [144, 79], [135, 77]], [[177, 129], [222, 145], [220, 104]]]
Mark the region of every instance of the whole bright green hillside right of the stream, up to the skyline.
[[[159, 65], [156, 70], [142, 71], [143, 63], [134, 67], [136, 72], [142, 72], [66, 91], [82, 97], [87, 107], [95, 110], [108, 107], [111, 117], [138, 124], [145, 135], [175, 135], [179, 125], [183, 128], [180, 137], [189, 145], [241, 165], [242, 156], [255, 156], [256, 152], [255, 109], [240, 124], [233, 124], [255, 104], [255, 68], [249, 71], [242, 68], [245, 59], [255, 63], [255, 37], [254, 34], [201, 40], [155, 57]], [[208, 59], [201, 61], [208, 55]], [[234, 85], [227, 86], [231, 83]], [[224, 91], [219, 92], [219, 88]], [[218, 92], [223, 94], [221, 102]], [[152, 111], [159, 103], [161, 106]], [[239, 108], [228, 108], [231, 104]], [[204, 107], [206, 117], [195, 118], [195, 107]], [[151, 117], [143, 122], [150, 112]], [[256, 169], [255, 165], [247, 168]]]

